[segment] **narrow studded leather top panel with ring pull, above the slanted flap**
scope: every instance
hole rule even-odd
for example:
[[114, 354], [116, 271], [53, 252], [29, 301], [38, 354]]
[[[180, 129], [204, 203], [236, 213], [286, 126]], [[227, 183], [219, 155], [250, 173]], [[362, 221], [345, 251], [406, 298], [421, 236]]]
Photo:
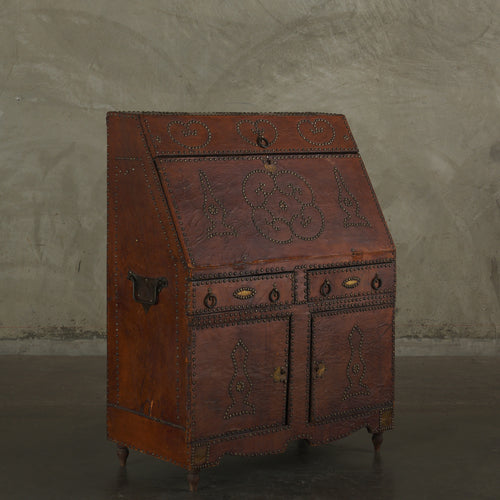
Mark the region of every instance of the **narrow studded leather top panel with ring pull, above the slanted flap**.
[[358, 151], [343, 115], [142, 113], [140, 118], [154, 157]]

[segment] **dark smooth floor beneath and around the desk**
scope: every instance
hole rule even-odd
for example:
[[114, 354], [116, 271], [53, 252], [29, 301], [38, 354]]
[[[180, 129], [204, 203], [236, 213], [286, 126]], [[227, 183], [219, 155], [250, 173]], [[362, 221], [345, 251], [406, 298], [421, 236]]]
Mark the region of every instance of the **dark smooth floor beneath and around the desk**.
[[0, 357], [0, 498], [500, 498], [500, 359], [398, 358], [396, 427], [283, 455], [182, 469], [106, 441], [105, 359]]

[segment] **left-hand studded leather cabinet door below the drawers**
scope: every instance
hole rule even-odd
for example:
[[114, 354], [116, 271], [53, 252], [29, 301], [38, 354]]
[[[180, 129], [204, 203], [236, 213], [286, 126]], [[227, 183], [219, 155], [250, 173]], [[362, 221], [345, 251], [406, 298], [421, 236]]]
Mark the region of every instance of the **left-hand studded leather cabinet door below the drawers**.
[[194, 331], [193, 440], [287, 423], [290, 317]]

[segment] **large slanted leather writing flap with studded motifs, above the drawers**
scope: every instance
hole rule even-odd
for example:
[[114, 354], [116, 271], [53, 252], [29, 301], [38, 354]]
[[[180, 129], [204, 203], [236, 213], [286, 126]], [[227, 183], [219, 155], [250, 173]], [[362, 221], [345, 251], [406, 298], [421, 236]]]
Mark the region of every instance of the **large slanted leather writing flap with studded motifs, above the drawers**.
[[357, 155], [273, 156], [270, 166], [267, 161], [266, 156], [157, 161], [190, 265], [314, 261], [332, 254], [349, 260], [353, 251], [391, 251]]

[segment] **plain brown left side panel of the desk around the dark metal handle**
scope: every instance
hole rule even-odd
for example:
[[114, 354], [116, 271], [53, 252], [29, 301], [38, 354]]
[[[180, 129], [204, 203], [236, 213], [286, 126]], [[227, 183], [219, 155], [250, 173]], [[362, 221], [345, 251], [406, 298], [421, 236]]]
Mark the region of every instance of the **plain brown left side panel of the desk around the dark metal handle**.
[[[107, 124], [108, 426], [116, 440], [113, 408], [185, 425], [186, 328], [179, 320], [185, 316], [185, 263], [138, 117], [109, 113]], [[156, 304], [140, 302], [141, 287], [130, 272], [166, 280]]]

